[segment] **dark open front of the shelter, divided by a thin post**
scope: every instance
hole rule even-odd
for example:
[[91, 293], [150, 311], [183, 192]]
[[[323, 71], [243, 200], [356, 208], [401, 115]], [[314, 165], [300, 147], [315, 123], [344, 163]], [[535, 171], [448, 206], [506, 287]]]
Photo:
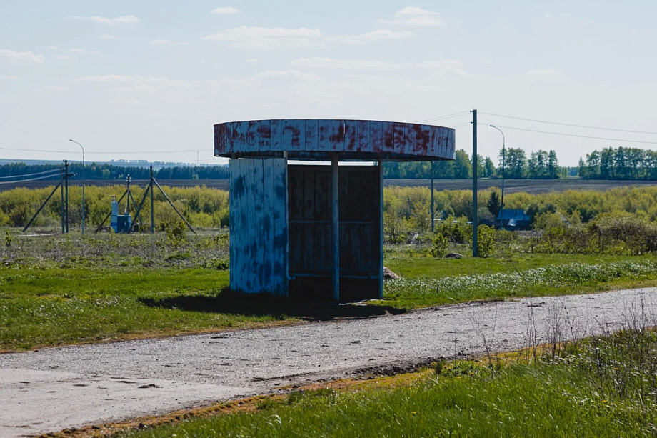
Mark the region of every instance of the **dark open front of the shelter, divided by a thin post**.
[[[381, 181], [378, 166], [338, 171], [340, 300], [380, 297]], [[331, 301], [333, 242], [330, 166], [288, 166], [289, 292]]]

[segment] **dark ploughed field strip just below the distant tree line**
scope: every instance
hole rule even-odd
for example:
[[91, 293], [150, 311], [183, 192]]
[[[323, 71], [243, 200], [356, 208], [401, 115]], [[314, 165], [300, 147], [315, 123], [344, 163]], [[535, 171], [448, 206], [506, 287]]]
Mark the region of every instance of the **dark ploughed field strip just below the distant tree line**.
[[[71, 185], [81, 185], [81, 180], [70, 181]], [[145, 186], [147, 180], [133, 179], [132, 184]], [[193, 187], [208, 186], [213, 189], [228, 190], [228, 179], [158, 179], [162, 186]], [[402, 187], [428, 187], [431, 185], [429, 179], [386, 179], [386, 186]], [[36, 189], [57, 184], [57, 181], [30, 181], [24, 184], [0, 184], [0, 191], [14, 189], [15, 187], [29, 187]], [[119, 179], [88, 179], [88, 186], [114, 186], [125, 184]], [[499, 187], [500, 179], [479, 179], [479, 189], [485, 190], [490, 187]], [[550, 191], [566, 190], [609, 190], [614, 187], [623, 186], [656, 186], [657, 181], [607, 181], [595, 179], [507, 179], [504, 181], [504, 190], [507, 193], [525, 191], [529, 194], [549, 193]], [[437, 190], [469, 190], [472, 189], [471, 179], [436, 179], [434, 186]]]

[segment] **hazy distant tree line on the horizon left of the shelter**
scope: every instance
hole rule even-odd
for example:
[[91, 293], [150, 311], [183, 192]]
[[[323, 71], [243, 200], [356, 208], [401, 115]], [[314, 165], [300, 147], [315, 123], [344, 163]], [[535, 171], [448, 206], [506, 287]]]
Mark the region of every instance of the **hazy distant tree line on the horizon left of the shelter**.
[[[0, 166], [0, 177], [9, 181], [12, 178], [6, 178], [7, 176], [16, 176], [16, 180], [20, 181], [19, 176], [21, 175], [37, 174], [63, 167], [64, 164], [8, 163]], [[81, 176], [82, 164], [69, 164], [69, 171]], [[228, 166], [171, 166], [156, 170], [154, 174], [159, 179], [228, 179], [230, 177]], [[147, 167], [116, 166], [114, 164], [91, 163], [84, 166], [86, 179], [125, 179], [128, 175], [134, 179], [149, 179], [150, 170]], [[59, 178], [59, 173], [56, 173], [51, 179]]]

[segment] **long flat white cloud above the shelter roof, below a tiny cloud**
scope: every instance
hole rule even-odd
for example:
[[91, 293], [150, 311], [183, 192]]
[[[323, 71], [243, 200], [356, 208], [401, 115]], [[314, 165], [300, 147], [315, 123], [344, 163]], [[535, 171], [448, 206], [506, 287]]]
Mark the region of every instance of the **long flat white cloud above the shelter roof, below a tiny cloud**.
[[319, 29], [284, 29], [282, 27], [247, 27], [218, 31], [204, 36], [209, 41], [227, 41], [234, 49], [275, 50], [302, 49], [314, 45], [321, 38]]

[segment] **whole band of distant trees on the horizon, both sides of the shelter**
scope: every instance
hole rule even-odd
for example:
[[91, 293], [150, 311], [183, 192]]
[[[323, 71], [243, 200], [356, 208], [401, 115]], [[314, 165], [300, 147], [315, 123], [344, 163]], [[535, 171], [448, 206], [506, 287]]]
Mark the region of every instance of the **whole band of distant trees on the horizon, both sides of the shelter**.
[[[478, 176], [481, 178], [502, 177], [502, 153], [497, 164], [486, 156], [478, 156]], [[43, 171], [59, 169], [56, 164], [11, 163], [0, 165], [0, 182], [9, 182], [11, 176], [37, 174]], [[593, 151], [580, 159], [578, 167], [559, 166], [555, 151], [531, 152], [527, 155], [523, 149], [507, 148], [505, 156], [505, 177], [508, 179], [557, 179], [579, 176], [584, 179], [624, 179], [657, 180], [657, 151], [644, 149], [606, 148]], [[69, 170], [80, 178], [82, 165], [71, 164]], [[144, 167], [116, 166], [114, 164], [87, 164], [84, 169], [86, 179], [125, 179], [130, 175], [134, 179], [148, 179], [149, 169]], [[36, 175], [35, 177], [38, 177]], [[228, 179], [228, 166], [171, 166], [155, 171], [159, 179]], [[9, 177], [9, 178], [8, 178]], [[471, 179], [472, 161], [463, 149], [456, 151], [453, 161], [436, 161], [434, 165], [436, 179]], [[386, 179], [429, 179], [431, 163], [428, 161], [387, 162], [383, 164], [383, 178]], [[55, 174], [51, 179], [59, 179]]]

